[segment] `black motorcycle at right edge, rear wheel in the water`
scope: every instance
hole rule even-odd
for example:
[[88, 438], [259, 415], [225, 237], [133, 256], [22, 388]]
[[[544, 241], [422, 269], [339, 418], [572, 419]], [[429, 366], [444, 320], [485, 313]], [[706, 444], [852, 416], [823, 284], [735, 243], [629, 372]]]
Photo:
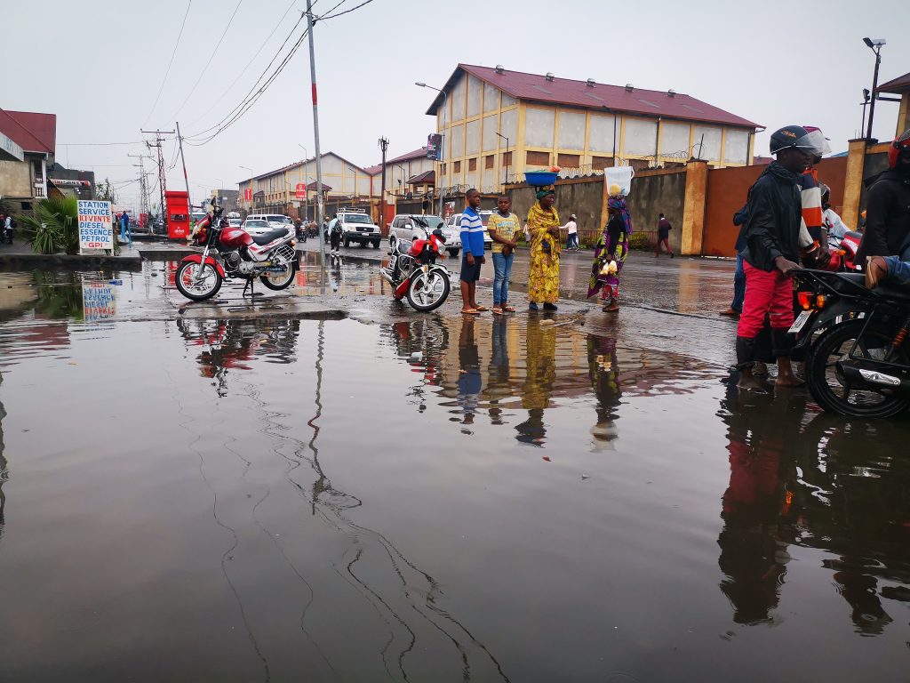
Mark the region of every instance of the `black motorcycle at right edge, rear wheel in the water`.
[[851, 417], [890, 417], [910, 406], [910, 292], [867, 290], [860, 273], [794, 277], [803, 311], [790, 331], [815, 401]]

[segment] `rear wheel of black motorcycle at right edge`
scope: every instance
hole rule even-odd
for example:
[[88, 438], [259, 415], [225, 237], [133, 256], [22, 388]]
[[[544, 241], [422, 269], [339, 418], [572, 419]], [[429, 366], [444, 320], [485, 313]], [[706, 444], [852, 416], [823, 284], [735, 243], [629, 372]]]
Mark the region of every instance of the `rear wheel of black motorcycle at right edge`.
[[[846, 381], [837, 362], [845, 360], [865, 321], [849, 321], [834, 326], [815, 340], [805, 360], [805, 378], [815, 401], [824, 410], [849, 417], [891, 417], [904, 411], [910, 400], [888, 387], [864, 385], [854, 388]], [[857, 355], [883, 360], [894, 333], [885, 325], [871, 323], [863, 333]], [[898, 349], [892, 362], [910, 364], [905, 349]]]

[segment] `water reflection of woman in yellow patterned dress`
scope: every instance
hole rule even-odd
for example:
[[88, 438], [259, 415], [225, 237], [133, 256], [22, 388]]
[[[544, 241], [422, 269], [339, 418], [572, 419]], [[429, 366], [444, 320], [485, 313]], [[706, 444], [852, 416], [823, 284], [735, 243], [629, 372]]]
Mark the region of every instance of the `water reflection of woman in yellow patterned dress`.
[[540, 446], [547, 435], [543, 410], [550, 404], [556, 380], [556, 330], [552, 325], [541, 327], [537, 318], [529, 318], [524, 342], [526, 374], [521, 386], [521, 407], [528, 411], [528, 419], [515, 426], [515, 438]]

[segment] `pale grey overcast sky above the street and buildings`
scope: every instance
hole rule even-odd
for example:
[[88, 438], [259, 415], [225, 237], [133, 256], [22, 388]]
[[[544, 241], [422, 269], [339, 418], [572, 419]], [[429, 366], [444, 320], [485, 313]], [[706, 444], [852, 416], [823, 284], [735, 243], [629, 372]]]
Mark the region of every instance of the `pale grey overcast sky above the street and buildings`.
[[[313, 11], [329, 14], [338, 2], [316, 0]], [[58, 160], [122, 184], [137, 175], [126, 154], [145, 149], [140, 128], [171, 130], [179, 121], [193, 138], [216, 125], [266, 71], [305, 7], [306, 0], [0, 0], [0, 107], [55, 113]], [[888, 41], [885, 82], [910, 71], [908, 25], [908, 0], [373, 0], [316, 26], [320, 145], [361, 166], [379, 161], [380, 136], [389, 138], [390, 156], [419, 148], [432, 128], [424, 112], [434, 93], [414, 82], [441, 87], [463, 62], [672, 87], [772, 130], [819, 126], [840, 151], [857, 134], [862, 90], [872, 84], [875, 57], [863, 36]], [[304, 41], [233, 127], [185, 148], [191, 192], [236, 188], [250, 175], [241, 166], [262, 173], [292, 163], [304, 155], [299, 144], [312, 155], [309, 93]], [[875, 136], [891, 138], [896, 116], [896, 104], [879, 102]], [[112, 142], [138, 144], [62, 144]], [[756, 152], [766, 145], [767, 134], [759, 136]], [[173, 137], [165, 155], [169, 166]], [[179, 165], [167, 182], [183, 188]], [[136, 183], [123, 187], [126, 203], [137, 196]]]

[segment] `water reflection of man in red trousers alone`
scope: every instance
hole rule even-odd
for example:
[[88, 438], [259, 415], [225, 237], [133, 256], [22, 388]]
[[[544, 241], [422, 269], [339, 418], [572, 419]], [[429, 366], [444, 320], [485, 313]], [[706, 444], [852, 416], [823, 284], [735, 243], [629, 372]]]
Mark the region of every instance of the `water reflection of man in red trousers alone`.
[[[772, 621], [790, 556], [783, 540], [789, 500], [781, 483], [784, 434], [779, 420], [743, 414], [728, 392], [730, 484], [723, 493], [723, 529], [717, 538], [717, 564], [726, 575], [721, 591], [733, 605], [733, 621]], [[750, 410], [752, 410], [750, 408]]]

